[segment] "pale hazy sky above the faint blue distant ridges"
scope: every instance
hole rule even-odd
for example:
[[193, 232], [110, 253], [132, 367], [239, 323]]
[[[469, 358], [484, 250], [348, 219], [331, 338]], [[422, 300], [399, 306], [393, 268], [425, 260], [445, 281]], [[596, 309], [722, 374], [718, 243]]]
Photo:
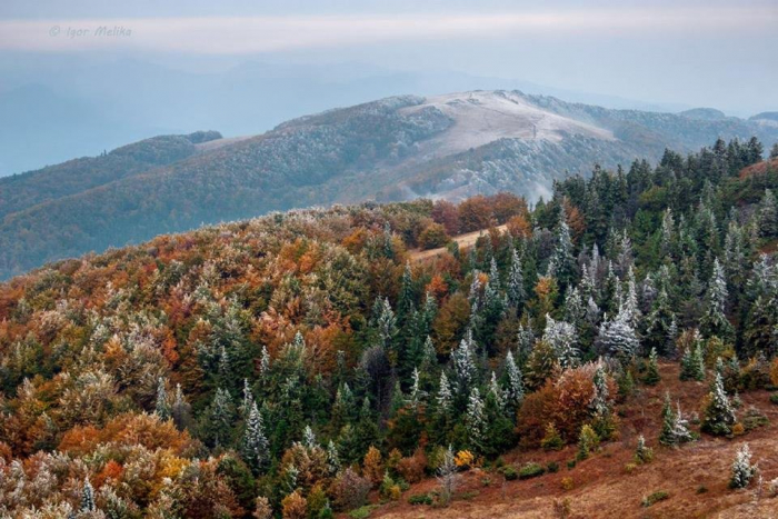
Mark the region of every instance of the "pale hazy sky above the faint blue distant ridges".
[[777, 27], [778, 0], [2, 0], [0, 54], [451, 70], [745, 116], [778, 110]]

